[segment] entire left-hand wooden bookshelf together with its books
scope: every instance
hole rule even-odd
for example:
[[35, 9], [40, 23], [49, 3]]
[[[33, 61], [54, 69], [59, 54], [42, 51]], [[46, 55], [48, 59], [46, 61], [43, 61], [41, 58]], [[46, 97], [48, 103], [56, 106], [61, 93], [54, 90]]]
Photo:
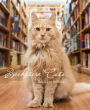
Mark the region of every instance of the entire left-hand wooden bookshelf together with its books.
[[20, 0], [0, 2], [0, 17], [5, 20], [5, 23], [0, 22], [0, 74], [9, 68], [25, 66], [23, 59], [27, 50], [28, 33], [26, 9], [26, 3], [22, 5]]

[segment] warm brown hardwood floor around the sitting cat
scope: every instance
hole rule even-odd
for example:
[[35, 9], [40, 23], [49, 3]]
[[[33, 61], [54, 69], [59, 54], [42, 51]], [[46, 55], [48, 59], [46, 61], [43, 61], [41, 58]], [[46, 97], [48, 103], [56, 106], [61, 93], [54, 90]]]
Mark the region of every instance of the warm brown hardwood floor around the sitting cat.
[[[17, 71], [21, 72], [22, 70]], [[90, 76], [77, 72], [74, 74], [78, 82], [90, 83]], [[54, 108], [27, 108], [30, 97], [22, 77], [5, 79], [4, 76], [0, 76], [0, 110], [90, 110], [89, 92], [73, 96], [71, 100], [55, 102]]]

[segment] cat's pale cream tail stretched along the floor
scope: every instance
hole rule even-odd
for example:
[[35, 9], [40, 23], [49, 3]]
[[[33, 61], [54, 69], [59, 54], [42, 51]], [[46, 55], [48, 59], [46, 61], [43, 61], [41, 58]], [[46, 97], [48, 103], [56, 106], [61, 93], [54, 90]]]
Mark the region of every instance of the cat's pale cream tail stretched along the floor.
[[79, 93], [89, 92], [90, 84], [89, 83], [76, 83], [74, 88], [71, 91], [71, 95], [76, 95]]

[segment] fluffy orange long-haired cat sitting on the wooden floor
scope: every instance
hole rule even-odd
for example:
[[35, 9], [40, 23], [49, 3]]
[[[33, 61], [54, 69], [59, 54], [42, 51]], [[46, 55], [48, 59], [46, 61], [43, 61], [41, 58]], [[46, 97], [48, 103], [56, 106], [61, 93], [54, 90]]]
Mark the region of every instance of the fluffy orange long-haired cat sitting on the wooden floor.
[[62, 50], [56, 16], [39, 19], [32, 14], [32, 27], [28, 35], [26, 53], [28, 67], [26, 79], [32, 91], [28, 107], [53, 107], [53, 101], [90, 91], [90, 85], [76, 83], [68, 56]]

